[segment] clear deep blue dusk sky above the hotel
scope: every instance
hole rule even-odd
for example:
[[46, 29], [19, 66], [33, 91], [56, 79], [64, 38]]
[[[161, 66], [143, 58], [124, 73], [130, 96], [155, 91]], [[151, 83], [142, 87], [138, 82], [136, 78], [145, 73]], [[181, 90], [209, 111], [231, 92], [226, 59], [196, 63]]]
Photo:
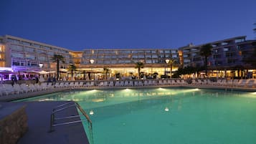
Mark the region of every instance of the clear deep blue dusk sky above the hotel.
[[0, 35], [72, 50], [254, 39], [256, 0], [1, 0]]

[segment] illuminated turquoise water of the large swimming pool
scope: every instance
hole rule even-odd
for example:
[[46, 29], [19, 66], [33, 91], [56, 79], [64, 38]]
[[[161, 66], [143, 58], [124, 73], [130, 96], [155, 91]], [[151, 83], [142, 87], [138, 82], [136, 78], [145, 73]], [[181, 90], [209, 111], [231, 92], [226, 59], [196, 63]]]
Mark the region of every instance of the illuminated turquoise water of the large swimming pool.
[[[256, 93], [186, 88], [58, 92], [93, 121], [94, 144], [256, 143]], [[24, 100], [23, 100], [24, 101]], [[87, 128], [87, 123], [84, 123]]]

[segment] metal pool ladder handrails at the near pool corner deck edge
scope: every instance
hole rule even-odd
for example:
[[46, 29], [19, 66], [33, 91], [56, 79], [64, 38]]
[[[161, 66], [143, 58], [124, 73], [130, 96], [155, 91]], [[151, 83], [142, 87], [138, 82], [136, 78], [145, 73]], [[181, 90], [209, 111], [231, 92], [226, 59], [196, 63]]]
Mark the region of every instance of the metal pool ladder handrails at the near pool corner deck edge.
[[[82, 113], [82, 115], [78, 114], [78, 115], [70, 115], [70, 116], [66, 116], [66, 117], [55, 117], [55, 114], [57, 112], [61, 112], [62, 110], [66, 110], [67, 108], [70, 108], [70, 107], [77, 107], [78, 110], [80, 110], [80, 112]], [[85, 119], [72, 120], [72, 118], [81, 117], [81, 116], [85, 116]], [[65, 123], [57, 123], [56, 122], [57, 120], [65, 120], [65, 119], [70, 119], [70, 121], [65, 122]], [[54, 131], [54, 127], [56, 127], [56, 126], [80, 123], [85, 120], [87, 120], [87, 122], [88, 122], [88, 129], [90, 130], [90, 138], [93, 141], [93, 123], [90, 120], [90, 117], [85, 112], [85, 110], [83, 110], [82, 107], [77, 102], [67, 102], [65, 104], [58, 105], [57, 107], [54, 107], [54, 109], [52, 110], [51, 121], [50, 121], [50, 126], [49, 126], [49, 133], [52, 133]]]

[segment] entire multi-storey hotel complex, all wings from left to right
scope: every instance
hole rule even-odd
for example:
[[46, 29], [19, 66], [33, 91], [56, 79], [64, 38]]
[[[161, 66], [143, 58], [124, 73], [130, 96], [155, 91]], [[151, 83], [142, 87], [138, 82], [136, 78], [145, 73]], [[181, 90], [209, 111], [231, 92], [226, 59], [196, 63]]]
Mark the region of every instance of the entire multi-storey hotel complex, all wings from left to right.
[[[252, 54], [254, 48], [252, 42], [255, 40], [246, 41], [245, 36], [210, 42], [213, 49], [208, 65], [209, 69], [212, 69], [212, 76], [216, 76], [214, 73], [219, 73], [219, 77], [245, 75], [245, 72], [232, 73], [232, 67], [238, 65], [243, 65], [247, 69], [255, 68], [242, 60], [243, 57]], [[84, 49], [77, 52], [5, 35], [0, 37], [0, 70], [36, 72], [43, 74], [44, 77], [54, 76], [56, 63], [52, 61], [52, 57], [54, 54], [60, 54], [65, 58], [65, 62], [60, 63], [61, 78], [70, 79], [70, 72], [67, 69], [70, 64], [75, 64], [77, 67], [75, 72], [77, 80], [84, 80], [88, 75], [103, 78], [104, 67], [110, 69], [109, 77], [117, 73], [123, 77], [138, 75], [136, 62], [143, 62], [144, 68], [141, 72], [144, 75], [153, 73], [158, 73], [158, 76], [169, 75], [170, 67], [166, 64], [166, 59], [175, 59], [173, 71], [178, 67], [202, 66], [204, 61], [199, 52], [203, 45], [189, 44], [179, 49]]]

